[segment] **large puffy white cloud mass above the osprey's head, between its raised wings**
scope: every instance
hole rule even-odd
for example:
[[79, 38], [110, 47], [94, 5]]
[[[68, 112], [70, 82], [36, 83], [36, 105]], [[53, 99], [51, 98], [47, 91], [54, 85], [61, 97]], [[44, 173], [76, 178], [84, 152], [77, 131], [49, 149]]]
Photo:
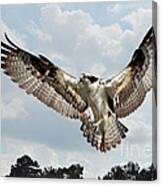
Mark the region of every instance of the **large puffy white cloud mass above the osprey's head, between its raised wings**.
[[[60, 59], [60, 66], [77, 69], [77, 74], [87, 71], [94, 63], [104, 66], [117, 61], [122, 54], [121, 26], [96, 24], [82, 10], [66, 11], [46, 5], [41, 8], [40, 26], [31, 25], [30, 32], [37, 36], [40, 50], [54, 61]], [[55, 54], [61, 57], [55, 58]]]

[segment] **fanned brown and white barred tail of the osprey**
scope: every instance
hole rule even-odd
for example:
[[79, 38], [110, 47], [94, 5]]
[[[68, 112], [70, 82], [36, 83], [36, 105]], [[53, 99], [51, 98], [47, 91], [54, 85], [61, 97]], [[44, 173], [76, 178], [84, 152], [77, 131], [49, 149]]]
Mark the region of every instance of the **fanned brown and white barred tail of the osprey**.
[[127, 127], [119, 120], [116, 120], [114, 116], [111, 116], [109, 123], [101, 122], [97, 126], [91, 122], [83, 122], [81, 130], [88, 143], [91, 143], [101, 152], [116, 148], [121, 143], [121, 140], [126, 137], [126, 132], [128, 132]]

